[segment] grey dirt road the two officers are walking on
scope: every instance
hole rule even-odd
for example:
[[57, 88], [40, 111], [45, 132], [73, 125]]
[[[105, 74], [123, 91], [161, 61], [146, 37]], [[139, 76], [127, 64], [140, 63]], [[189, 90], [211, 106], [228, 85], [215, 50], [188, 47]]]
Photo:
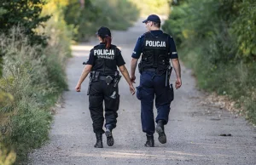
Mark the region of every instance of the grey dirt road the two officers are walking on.
[[[128, 31], [113, 31], [113, 44], [121, 48], [129, 71], [132, 50], [137, 37], [144, 31], [140, 21]], [[118, 126], [113, 130], [115, 144], [108, 147], [103, 136], [104, 148], [94, 148], [96, 138], [86, 95], [88, 79], [84, 81], [81, 93], [75, 92], [74, 88], [84, 67], [82, 63], [96, 43], [95, 39], [73, 47], [73, 58], [67, 64], [70, 90], [63, 94], [63, 106], [56, 111], [49, 143], [30, 155], [30, 164], [256, 164], [255, 128], [229, 111], [201, 105], [204, 94], [195, 88], [195, 78], [184, 66], [183, 86], [175, 90], [165, 145], [160, 144], [155, 134], [155, 147], [144, 147], [146, 136], [141, 128], [140, 102], [135, 95], [131, 96], [122, 78]], [[172, 73], [171, 79], [174, 83], [175, 74]]]

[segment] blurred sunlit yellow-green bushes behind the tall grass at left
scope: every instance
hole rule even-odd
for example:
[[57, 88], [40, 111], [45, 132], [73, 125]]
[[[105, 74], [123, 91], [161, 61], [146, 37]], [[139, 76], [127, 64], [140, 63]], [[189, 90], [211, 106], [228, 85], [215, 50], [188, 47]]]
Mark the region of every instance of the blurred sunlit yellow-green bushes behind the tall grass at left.
[[48, 71], [48, 78], [55, 84], [55, 88], [67, 89], [65, 67], [67, 58], [71, 56], [71, 41], [73, 38], [73, 26], [67, 26], [64, 20], [64, 9], [67, 1], [51, 0], [44, 5], [42, 15], [51, 14], [51, 18], [45, 23], [46, 26], [38, 29], [39, 33], [49, 36], [48, 44], [51, 48], [45, 49], [48, 54], [45, 63]]

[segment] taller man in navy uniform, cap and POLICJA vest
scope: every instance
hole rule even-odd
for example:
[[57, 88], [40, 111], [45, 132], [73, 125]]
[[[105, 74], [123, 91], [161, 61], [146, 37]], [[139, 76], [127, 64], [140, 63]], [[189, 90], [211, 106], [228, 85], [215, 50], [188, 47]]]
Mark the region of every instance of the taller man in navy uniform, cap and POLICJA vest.
[[[173, 100], [173, 88], [169, 83], [172, 66], [177, 76], [175, 87], [180, 88], [182, 81], [175, 43], [172, 37], [160, 31], [160, 18], [151, 14], [143, 23], [148, 32], [137, 39], [131, 55], [131, 82], [135, 83], [137, 60], [142, 54], [138, 65], [141, 76], [140, 85], [137, 87], [137, 99], [141, 100], [142, 126], [147, 136], [145, 146], [154, 147], [155, 130], [159, 134], [160, 143], [166, 143], [164, 126], [168, 122], [170, 105]], [[172, 60], [172, 66], [170, 60]], [[157, 109], [156, 127], [154, 126], [154, 101]]]

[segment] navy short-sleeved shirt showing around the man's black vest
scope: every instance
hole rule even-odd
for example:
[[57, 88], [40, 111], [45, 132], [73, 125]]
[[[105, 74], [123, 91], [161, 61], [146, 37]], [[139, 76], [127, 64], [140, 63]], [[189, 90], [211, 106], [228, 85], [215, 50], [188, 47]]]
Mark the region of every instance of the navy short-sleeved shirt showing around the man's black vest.
[[[151, 34], [153, 36], [159, 36], [160, 34], [163, 33], [163, 31], [161, 30], [156, 30], [156, 31], [150, 31]], [[139, 59], [142, 52], [143, 52], [143, 41], [144, 41], [144, 34], [139, 37], [137, 39], [137, 43], [135, 45], [135, 48], [133, 50], [133, 53], [131, 55], [132, 58], [134, 59]], [[168, 43], [169, 43], [169, 53], [170, 53], [170, 59], [177, 59], [177, 50], [176, 50], [176, 46], [175, 46], [175, 43], [173, 41], [173, 38], [171, 36], [168, 37]]]

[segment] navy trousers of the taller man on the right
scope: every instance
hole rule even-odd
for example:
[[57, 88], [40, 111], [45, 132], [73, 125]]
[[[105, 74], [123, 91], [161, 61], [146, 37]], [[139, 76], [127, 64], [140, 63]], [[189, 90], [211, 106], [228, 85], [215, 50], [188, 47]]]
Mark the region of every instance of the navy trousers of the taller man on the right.
[[153, 101], [155, 95], [155, 107], [157, 117], [155, 122], [164, 120], [168, 122], [170, 105], [173, 100], [173, 88], [169, 82], [166, 87], [166, 74], [157, 76], [154, 71], [143, 71], [140, 77], [140, 85], [137, 87], [137, 99], [141, 100], [141, 118], [143, 132], [154, 134]]

